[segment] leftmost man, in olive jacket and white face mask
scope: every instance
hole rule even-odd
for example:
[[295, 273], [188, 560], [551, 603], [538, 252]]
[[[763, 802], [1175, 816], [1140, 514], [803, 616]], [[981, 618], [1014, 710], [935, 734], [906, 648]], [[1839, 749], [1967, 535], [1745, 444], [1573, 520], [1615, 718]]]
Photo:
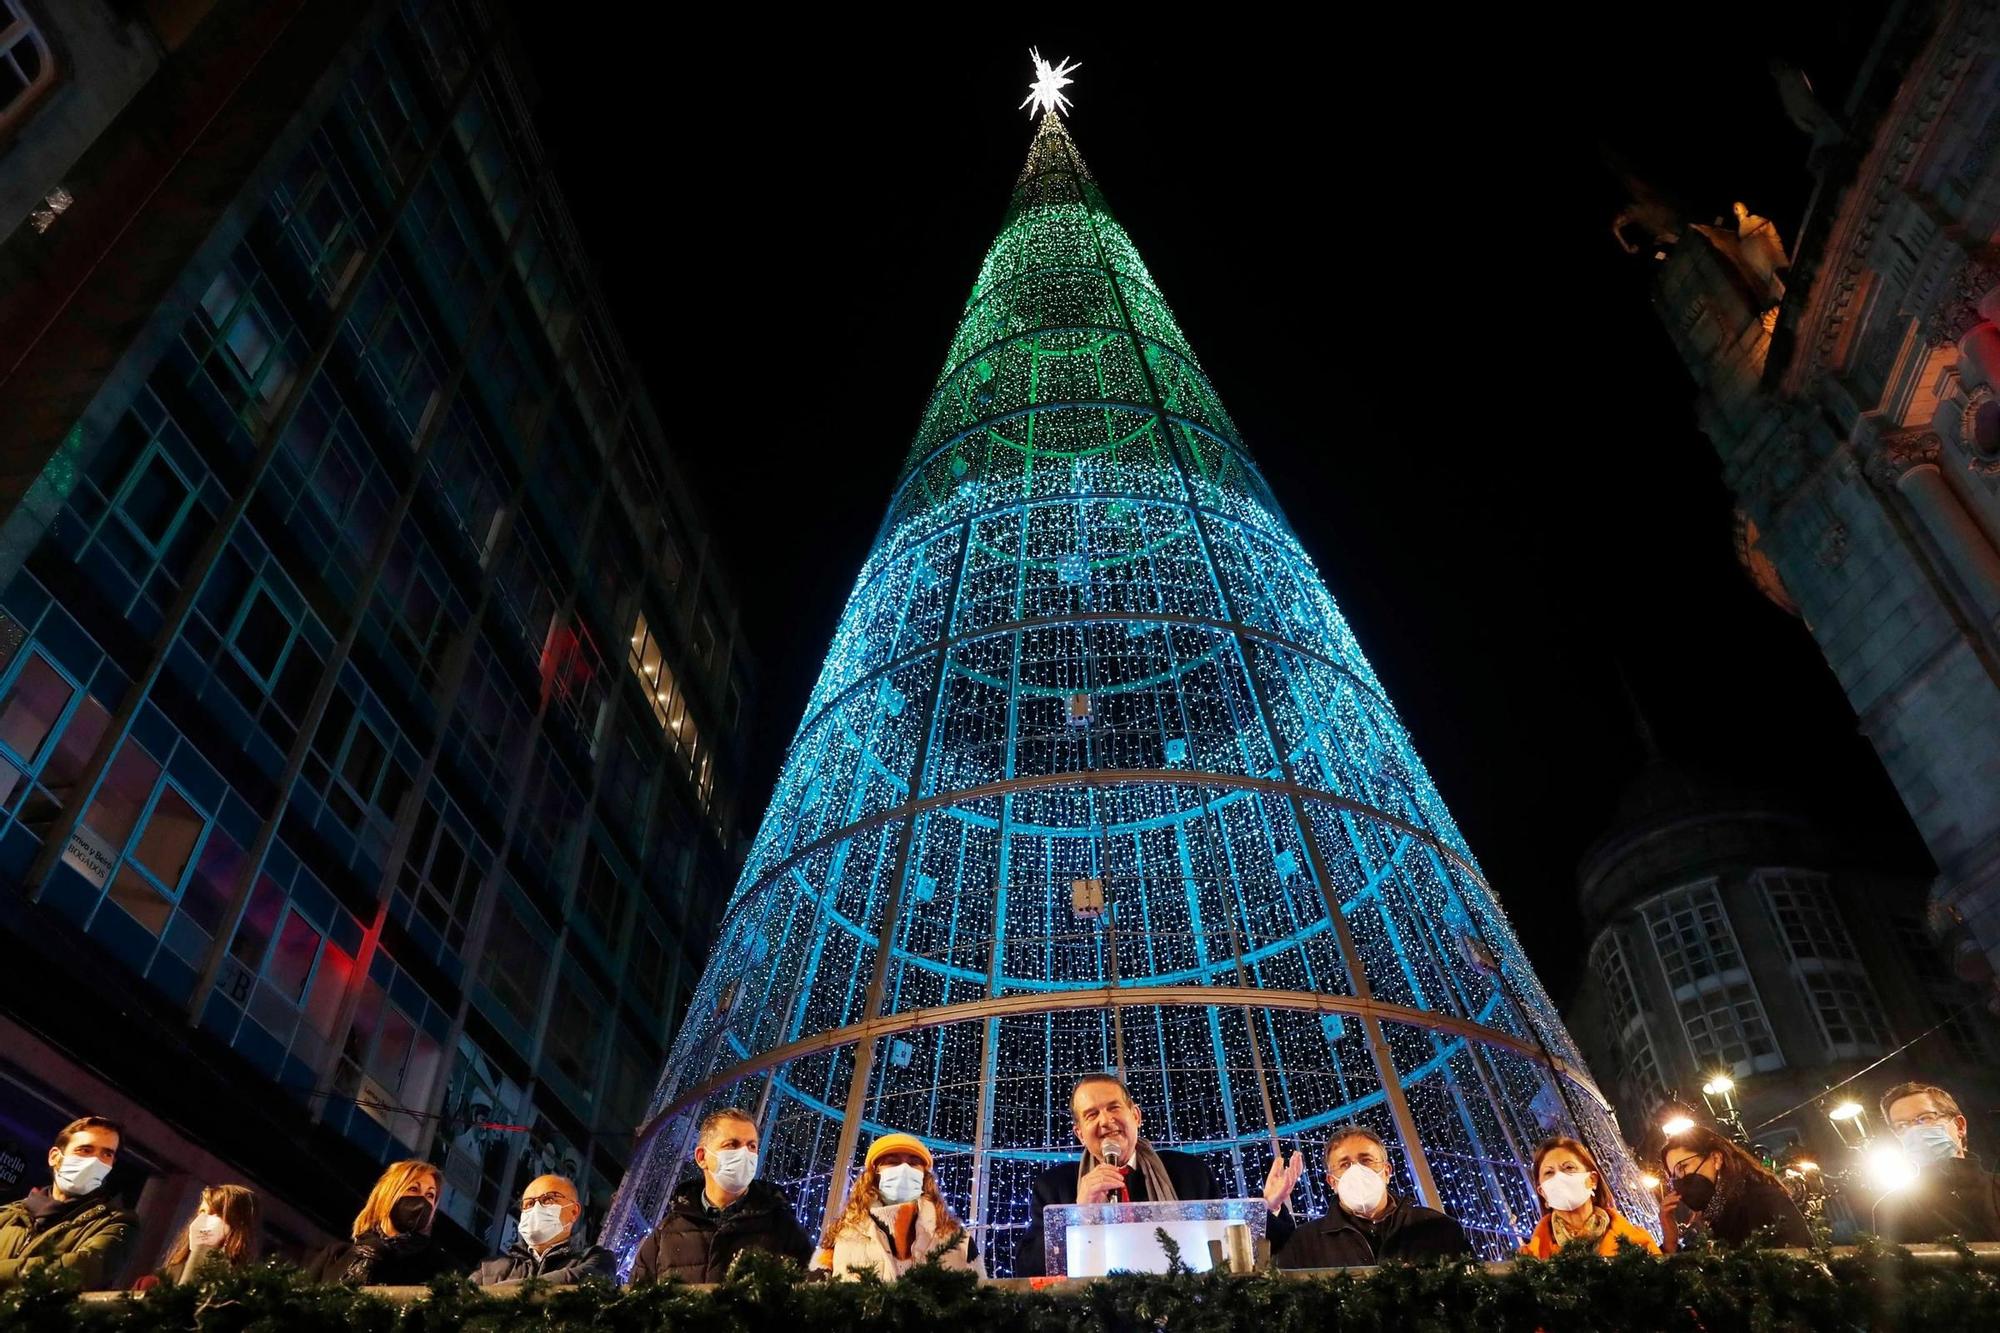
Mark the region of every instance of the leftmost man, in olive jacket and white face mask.
[[0, 1287], [36, 1269], [68, 1269], [84, 1291], [122, 1285], [138, 1245], [138, 1219], [104, 1193], [118, 1161], [118, 1125], [94, 1115], [70, 1121], [48, 1149], [48, 1189], [0, 1207]]

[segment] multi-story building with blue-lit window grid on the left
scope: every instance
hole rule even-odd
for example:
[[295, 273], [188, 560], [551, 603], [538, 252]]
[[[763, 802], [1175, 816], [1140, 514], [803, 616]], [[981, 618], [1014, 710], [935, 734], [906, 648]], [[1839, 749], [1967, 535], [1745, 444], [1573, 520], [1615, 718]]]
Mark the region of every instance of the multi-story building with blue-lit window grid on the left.
[[0, 0], [0, 1179], [124, 1115], [154, 1245], [600, 1205], [734, 877], [732, 596], [512, 42]]

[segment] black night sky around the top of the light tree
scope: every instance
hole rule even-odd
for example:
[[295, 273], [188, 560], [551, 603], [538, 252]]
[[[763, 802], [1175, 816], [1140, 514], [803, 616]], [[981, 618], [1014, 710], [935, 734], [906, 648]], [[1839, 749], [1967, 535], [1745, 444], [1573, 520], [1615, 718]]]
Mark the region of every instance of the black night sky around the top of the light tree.
[[1928, 867], [1736, 564], [1604, 168], [1790, 240], [1806, 142], [1766, 64], [1836, 100], [1876, 6], [1404, 12], [1432, 20], [532, 22], [558, 174], [742, 594], [752, 811], [1000, 224], [1036, 44], [1082, 60], [1072, 134], [1558, 997], [1578, 857], [1644, 761], [1620, 677], [1670, 759]]

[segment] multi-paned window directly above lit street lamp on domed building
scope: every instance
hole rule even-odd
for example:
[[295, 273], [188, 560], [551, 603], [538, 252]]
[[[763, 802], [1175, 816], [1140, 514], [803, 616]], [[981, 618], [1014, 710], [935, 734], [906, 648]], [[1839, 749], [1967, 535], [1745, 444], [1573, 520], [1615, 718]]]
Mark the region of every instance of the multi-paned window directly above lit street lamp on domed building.
[[1782, 1069], [1784, 1057], [1770, 1035], [1716, 883], [1660, 895], [1646, 903], [1644, 919], [1694, 1067], [1702, 1073], [1724, 1067], [1736, 1077]]

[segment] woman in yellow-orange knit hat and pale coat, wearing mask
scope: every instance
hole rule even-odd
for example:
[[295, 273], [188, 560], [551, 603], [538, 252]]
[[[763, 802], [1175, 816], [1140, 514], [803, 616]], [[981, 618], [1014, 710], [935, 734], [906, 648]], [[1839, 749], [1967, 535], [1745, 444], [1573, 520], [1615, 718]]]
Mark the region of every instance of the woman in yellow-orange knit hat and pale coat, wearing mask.
[[944, 1205], [924, 1141], [882, 1135], [868, 1145], [848, 1207], [812, 1267], [836, 1279], [854, 1281], [866, 1271], [892, 1283], [932, 1253], [948, 1269], [972, 1269], [972, 1233]]

